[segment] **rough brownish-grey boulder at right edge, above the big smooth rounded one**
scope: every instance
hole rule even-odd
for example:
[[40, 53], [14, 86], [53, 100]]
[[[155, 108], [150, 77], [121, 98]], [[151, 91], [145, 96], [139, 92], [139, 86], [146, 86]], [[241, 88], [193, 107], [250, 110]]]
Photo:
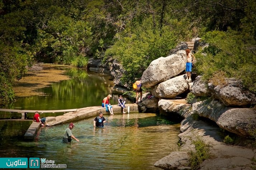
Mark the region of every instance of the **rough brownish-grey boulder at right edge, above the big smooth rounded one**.
[[226, 106], [244, 106], [255, 104], [255, 94], [243, 90], [240, 81], [234, 78], [226, 79], [227, 85], [214, 86], [212, 83], [208, 83], [208, 88], [213, 98], [219, 99]]

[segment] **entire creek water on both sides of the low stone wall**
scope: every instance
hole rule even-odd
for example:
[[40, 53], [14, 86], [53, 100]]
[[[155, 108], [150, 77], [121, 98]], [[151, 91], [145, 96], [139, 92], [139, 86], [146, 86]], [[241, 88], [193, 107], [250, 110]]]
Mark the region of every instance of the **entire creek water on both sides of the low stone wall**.
[[[8, 107], [59, 110], [100, 106], [108, 94], [113, 96], [110, 103], [117, 104], [120, 92], [113, 92], [109, 76], [85, 71], [80, 73], [86, 76], [74, 76], [67, 71], [71, 79], [37, 90], [46, 95], [20, 97]], [[125, 100], [133, 102], [128, 98]], [[41, 117], [57, 116], [56, 113], [47, 114], [43, 113]], [[154, 163], [178, 150], [180, 123], [155, 113], [117, 113], [104, 117], [107, 120], [104, 128], [93, 127], [95, 117], [74, 122], [72, 133], [80, 142], [72, 140], [68, 144], [62, 143], [68, 123], [41, 127], [33, 141], [25, 141], [24, 133], [32, 120], [0, 120], [0, 157], [45, 158], [54, 160], [54, 164], [66, 164], [65, 169], [70, 170], [148, 170], [160, 169], [153, 166]]]

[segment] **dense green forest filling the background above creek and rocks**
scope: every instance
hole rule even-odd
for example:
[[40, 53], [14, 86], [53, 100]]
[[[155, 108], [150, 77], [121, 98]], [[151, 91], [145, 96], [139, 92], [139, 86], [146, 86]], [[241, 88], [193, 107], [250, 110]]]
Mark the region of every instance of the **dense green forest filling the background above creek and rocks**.
[[255, 92], [255, 20], [255, 0], [0, 0], [0, 101], [14, 101], [13, 82], [35, 62], [114, 58], [131, 83], [193, 37], [209, 43], [195, 54], [197, 74]]

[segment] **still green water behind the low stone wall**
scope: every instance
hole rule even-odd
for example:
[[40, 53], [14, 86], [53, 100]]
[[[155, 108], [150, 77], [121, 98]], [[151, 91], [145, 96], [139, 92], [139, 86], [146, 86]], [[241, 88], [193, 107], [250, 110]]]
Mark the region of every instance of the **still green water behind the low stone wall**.
[[[122, 94], [122, 92], [113, 92], [114, 84], [110, 76], [77, 68], [65, 71], [65, 74], [70, 76], [71, 79], [53, 82], [49, 87], [38, 89], [37, 91], [44, 93], [44, 96], [18, 97], [13, 104], [1, 108], [16, 110], [66, 110], [101, 106], [103, 98], [108, 94], [112, 94], [110, 103], [112, 105], [118, 104], [118, 94]], [[125, 96], [124, 99], [126, 103], [132, 103]], [[20, 113], [18, 115], [20, 115], [18, 117], [21, 117]], [[33, 118], [33, 115], [34, 113], [28, 113], [27, 116]], [[59, 115], [63, 115], [63, 113], [43, 113], [40, 117]], [[13, 113], [0, 112], [0, 118], [11, 118], [13, 116], [17, 117]]]

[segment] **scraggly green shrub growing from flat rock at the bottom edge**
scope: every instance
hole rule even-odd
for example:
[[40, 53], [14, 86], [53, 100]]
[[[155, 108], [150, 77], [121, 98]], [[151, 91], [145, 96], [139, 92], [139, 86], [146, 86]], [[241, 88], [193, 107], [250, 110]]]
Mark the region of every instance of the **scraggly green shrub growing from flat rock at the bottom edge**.
[[195, 145], [195, 152], [190, 152], [189, 157], [189, 166], [193, 170], [197, 170], [200, 167], [200, 164], [211, 157], [210, 154], [210, 144], [205, 144], [205, 142], [199, 137], [192, 141], [192, 144]]

